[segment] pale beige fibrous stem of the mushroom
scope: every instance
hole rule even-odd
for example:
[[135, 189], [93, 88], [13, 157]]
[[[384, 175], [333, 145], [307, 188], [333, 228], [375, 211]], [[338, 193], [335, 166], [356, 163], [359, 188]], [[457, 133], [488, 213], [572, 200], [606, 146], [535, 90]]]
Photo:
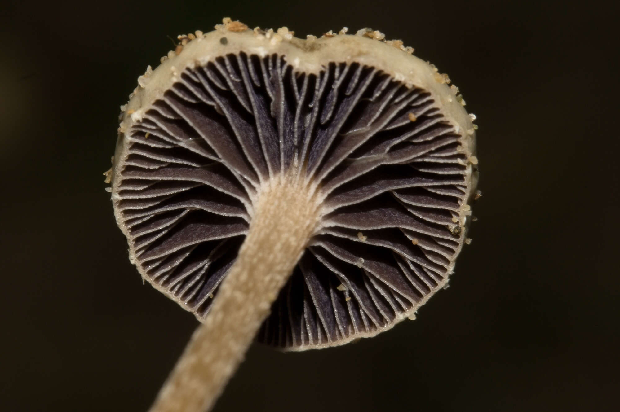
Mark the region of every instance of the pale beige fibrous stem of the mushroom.
[[237, 260], [219, 287], [150, 412], [210, 410], [267, 318], [319, 221], [305, 185], [275, 177], [263, 185]]

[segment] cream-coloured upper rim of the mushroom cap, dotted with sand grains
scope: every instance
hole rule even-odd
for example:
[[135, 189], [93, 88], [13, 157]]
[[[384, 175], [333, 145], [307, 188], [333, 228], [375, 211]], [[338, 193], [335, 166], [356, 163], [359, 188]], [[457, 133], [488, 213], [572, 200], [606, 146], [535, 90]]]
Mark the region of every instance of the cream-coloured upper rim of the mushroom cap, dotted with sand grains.
[[186, 68], [205, 65], [219, 56], [231, 53], [244, 52], [262, 57], [275, 53], [283, 55], [286, 62], [298, 72], [317, 74], [331, 62], [355, 62], [384, 71], [408, 87], [427, 90], [446, 120], [458, 126], [456, 132], [464, 137], [461, 142], [464, 152], [468, 156], [474, 154], [472, 118], [463, 108], [463, 99], [446, 84], [447, 76], [439, 74], [435, 66], [399, 48], [360, 35], [340, 34], [304, 40], [271, 32], [265, 35], [257, 30], [232, 32], [220, 28], [205, 34], [198, 33], [198, 37], [182, 48], [177, 48], [178, 55], [169, 53], [170, 58], [153, 71], [149, 66], [144, 76], [139, 77], [138, 87], [129, 103], [123, 107], [120, 133], [125, 133], [140, 121], [153, 102], [161, 99], [164, 92], [180, 80], [179, 76]]

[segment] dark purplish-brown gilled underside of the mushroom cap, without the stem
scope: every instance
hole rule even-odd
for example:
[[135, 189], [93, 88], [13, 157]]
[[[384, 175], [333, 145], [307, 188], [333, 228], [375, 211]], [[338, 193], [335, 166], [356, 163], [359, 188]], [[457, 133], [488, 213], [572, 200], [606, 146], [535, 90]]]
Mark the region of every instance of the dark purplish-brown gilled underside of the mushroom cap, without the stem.
[[125, 117], [113, 204], [142, 276], [202, 318], [261, 186], [306, 180], [321, 222], [257, 336], [302, 350], [376, 335], [445, 286], [473, 142], [422, 85], [351, 59], [317, 72], [290, 61], [247, 50], [178, 69]]

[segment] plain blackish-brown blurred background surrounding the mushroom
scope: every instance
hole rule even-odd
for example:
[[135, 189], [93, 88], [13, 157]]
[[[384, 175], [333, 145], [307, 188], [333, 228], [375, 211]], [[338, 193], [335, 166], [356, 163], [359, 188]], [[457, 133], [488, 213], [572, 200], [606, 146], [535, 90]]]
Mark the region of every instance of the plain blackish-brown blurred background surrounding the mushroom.
[[417, 320], [321, 351], [254, 345], [215, 411], [617, 410], [617, 24], [595, 2], [479, 1], [3, 5], [0, 410], [146, 411], [197, 326], [130, 265], [102, 172], [167, 36], [224, 16], [414, 46], [478, 116], [484, 196]]

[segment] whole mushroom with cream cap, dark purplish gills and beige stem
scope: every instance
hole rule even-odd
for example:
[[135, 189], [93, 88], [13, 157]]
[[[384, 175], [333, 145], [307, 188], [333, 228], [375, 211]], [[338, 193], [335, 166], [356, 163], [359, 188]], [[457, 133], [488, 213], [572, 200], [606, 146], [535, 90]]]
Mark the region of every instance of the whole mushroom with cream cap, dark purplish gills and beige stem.
[[130, 260], [203, 323], [152, 411], [210, 409], [254, 338], [345, 344], [447, 286], [474, 116], [402, 42], [346, 31], [224, 19], [179, 37], [122, 107], [108, 179]]

